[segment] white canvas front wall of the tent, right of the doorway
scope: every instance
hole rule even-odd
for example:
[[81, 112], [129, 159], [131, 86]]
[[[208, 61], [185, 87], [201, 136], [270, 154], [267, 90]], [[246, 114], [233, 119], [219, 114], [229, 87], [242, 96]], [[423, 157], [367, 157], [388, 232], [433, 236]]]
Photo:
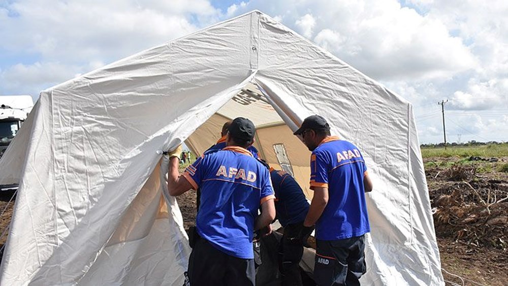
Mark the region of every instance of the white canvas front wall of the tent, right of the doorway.
[[[279, 115], [299, 125], [306, 116], [321, 114], [332, 133], [354, 142], [366, 159], [375, 185], [367, 195], [372, 229], [368, 264], [375, 271], [362, 281], [390, 284], [397, 277], [410, 284], [441, 283], [430, 204], [422, 204], [429, 201], [425, 176], [411, 170], [416, 165], [421, 171], [423, 164], [412, 151], [419, 144], [410, 136], [416, 134], [410, 105], [329, 52], [261, 17], [256, 82]], [[401, 246], [404, 251], [397, 251]], [[408, 268], [408, 261], [421, 267]]]

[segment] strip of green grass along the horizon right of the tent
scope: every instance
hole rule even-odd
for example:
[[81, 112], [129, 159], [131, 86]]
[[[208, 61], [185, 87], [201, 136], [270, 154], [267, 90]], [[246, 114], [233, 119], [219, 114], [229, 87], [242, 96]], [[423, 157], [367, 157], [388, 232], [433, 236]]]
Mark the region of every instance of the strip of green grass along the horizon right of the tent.
[[483, 158], [508, 156], [508, 143], [483, 146], [448, 146], [446, 150], [444, 150], [444, 147], [422, 148], [422, 157], [424, 158], [466, 158], [470, 156], [479, 156]]

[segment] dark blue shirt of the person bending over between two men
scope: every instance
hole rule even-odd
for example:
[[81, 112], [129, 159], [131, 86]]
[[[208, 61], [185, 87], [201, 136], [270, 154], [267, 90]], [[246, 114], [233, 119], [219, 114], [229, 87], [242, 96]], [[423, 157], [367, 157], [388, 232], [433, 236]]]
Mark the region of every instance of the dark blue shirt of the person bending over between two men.
[[309, 203], [296, 180], [284, 171], [270, 169], [272, 186], [275, 191], [276, 218], [285, 227], [303, 223], [309, 211]]

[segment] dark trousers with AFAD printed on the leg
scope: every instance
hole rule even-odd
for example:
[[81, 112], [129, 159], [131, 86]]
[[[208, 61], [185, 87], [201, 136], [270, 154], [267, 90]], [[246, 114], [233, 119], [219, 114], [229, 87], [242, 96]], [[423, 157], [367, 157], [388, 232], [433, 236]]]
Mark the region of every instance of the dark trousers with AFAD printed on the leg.
[[365, 265], [364, 235], [341, 240], [316, 240], [314, 280], [320, 286], [360, 285]]

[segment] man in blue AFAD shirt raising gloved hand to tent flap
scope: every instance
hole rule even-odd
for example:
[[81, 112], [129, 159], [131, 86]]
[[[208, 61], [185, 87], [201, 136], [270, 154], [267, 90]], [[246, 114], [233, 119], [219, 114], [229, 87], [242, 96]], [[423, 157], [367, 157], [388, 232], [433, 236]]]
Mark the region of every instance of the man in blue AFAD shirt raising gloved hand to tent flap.
[[203, 154], [182, 176], [179, 151], [169, 152], [170, 195], [201, 189], [196, 217], [199, 238], [187, 271], [191, 285], [256, 284], [252, 236], [275, 218], [275, 206], [269, 171], [246, 149], [254, 134], [250, 120], [235, 118], [228, 128], [226, 147]]

